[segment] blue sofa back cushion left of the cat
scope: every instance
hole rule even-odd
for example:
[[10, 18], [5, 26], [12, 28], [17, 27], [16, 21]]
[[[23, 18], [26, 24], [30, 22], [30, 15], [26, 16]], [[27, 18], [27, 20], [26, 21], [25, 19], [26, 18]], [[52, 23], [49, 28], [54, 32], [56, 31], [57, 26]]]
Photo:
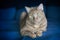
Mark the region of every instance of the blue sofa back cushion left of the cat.
[[16, 8], [0, 9], [0, 20], [14, 20]]

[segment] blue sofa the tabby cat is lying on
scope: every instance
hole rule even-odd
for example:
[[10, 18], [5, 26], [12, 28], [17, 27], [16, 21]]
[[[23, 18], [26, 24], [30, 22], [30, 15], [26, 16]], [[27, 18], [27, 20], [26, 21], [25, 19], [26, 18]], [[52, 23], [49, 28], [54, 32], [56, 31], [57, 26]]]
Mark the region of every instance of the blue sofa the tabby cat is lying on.
[[19, 33], [19, 18], [25, 8], [16, 7], [0, 9], [0, 38], [1, 40], [60, 40], [60, 7], [46, 6], [44, 11], [48, 21], [47, 31], [42, 37], [32, 39], [21, 37]]

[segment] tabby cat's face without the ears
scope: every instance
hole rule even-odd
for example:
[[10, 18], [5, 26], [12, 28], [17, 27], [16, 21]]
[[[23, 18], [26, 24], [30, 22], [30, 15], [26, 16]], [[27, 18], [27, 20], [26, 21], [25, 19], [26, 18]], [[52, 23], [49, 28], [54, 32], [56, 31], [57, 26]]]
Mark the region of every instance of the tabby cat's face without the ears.
[[31, 21], [34, 21], [34, 23], [38, 23], [38, 22], [40, 22], [41, 21], [41, 19], [42, 19], [42, 15], [41, 15], [41, 13], [43, 13], [43, 11], [42, 10], [32, 10], [30, 13], [29, 13], [29, 19], [31, 20]]

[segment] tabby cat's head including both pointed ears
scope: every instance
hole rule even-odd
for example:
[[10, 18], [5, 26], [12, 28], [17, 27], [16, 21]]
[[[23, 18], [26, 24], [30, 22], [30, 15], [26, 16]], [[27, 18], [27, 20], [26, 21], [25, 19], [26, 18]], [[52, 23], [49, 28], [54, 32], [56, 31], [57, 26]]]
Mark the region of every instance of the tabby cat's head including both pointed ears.
[[31, 21], [39, 22], [42, 18], [43, 4], [41, 3], [37, 7], [25, 7], [28, 13], [28, 17]]

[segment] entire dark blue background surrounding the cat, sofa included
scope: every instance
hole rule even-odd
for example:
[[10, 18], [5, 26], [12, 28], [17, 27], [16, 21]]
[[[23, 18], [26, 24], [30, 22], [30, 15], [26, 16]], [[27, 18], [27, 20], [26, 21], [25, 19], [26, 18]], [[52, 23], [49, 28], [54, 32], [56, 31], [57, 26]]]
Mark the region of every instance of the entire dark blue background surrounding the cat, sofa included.
[[[47, 31], [35, 39], [21, 37], [19, 18], [24, 6], [38, 6], [41, 2], [48, 20]], [[0, 4], [0, 40], [60, 40], [59, 0], [3, 0]]]

